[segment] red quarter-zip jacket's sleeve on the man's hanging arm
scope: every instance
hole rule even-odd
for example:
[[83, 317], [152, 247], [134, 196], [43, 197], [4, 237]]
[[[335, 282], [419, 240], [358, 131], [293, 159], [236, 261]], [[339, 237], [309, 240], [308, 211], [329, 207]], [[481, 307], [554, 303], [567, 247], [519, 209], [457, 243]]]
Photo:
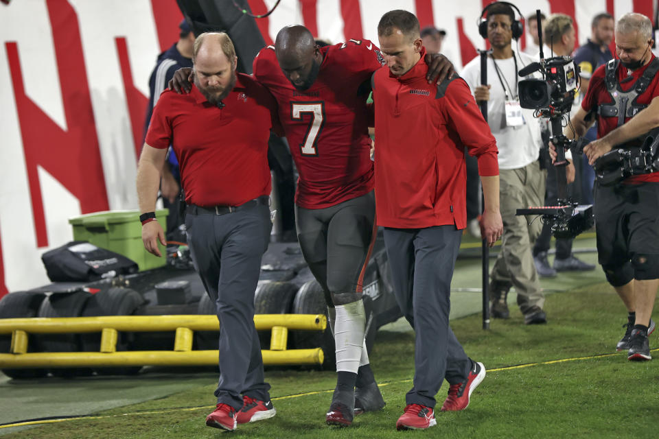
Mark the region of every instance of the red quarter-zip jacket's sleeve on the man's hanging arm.
[[[441, 90], [442, 84], [439, 84]], [[467, 147], [470, 156], [478, 158], [478, 174], [481, 176], [498, 176], [499, 163], [496, 139], [489, 130], [489, 125], [481, 110], [478, 109], [474, 95], [462, 78], [452, 80], [446, 86], [444, 99], [439, 99], [441, 111], [450, 128], [458, 134]]]

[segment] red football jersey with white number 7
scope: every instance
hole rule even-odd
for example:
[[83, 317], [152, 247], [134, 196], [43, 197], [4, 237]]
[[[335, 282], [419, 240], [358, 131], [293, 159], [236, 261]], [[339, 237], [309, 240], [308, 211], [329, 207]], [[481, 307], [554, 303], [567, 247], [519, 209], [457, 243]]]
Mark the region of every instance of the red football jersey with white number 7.
[[275, 48], [262, 49], [253, 74], [279, 106], [279, 118], [299, 180], [295, 202], [323, 209], [373, 189], [366, 101], [371, 75], [382, 66], [378, 47], [369, 40], [349, 40], [322, 47], [318, 78], [299, 91], [284, 76]]

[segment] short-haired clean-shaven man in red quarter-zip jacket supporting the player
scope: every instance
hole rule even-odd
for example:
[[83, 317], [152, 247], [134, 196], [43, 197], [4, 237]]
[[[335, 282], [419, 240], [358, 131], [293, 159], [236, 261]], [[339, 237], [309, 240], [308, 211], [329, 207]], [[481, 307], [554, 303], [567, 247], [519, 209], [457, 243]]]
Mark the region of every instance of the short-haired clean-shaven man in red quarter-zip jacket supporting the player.
[[397, 429], [436, 424], [435, 394], [446, 377], [441, 410], [463, 410], [485, 367], [463, 351], [448, 324], [451, 278], [466, 225], [465, 146], [478, 158], [490, 246], [503, 232], [496, 141], [469, 87], [454, 77], [428, 84], [419, 21], [387, 12], [378, 25], [386, 67], [373, 74], [375, 206], [391, 261], [398, 305], [416, 332], [414, 386]]

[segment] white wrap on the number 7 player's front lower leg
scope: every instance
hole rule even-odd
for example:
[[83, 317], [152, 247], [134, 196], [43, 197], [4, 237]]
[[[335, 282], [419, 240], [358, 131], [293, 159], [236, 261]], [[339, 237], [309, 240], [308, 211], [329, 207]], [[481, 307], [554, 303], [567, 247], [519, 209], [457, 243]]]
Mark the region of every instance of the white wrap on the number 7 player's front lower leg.
[[357, 373], [366, 325], [364, 302], [357, 300], [346, 305], [337, 305], [335, 309], [336, 372]]

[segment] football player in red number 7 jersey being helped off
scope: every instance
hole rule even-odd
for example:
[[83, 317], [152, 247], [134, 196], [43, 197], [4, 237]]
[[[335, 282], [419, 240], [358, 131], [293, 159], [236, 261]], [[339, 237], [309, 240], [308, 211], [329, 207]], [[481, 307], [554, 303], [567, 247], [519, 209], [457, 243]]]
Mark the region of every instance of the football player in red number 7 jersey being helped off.
[[[335, 334], [338, 379], [329, 425], [350, 425], [355, 413], [384, 407], [365, 347], [362, 302], [377, 231], [367, 99], [371, 75], [382, 62], [369, 40], [318, 47], [301, 25], [281, 29], [275, 46], [262, 49], [253, 62], [253, 75], [277, 99], [299, 172], [298, 239], [325, 292]], [[452, 74], [452, 64], [441, 55], [426, 62], [429, 82]], [[188, 76], [178, 71], [172, 87], [185, 89]]]

